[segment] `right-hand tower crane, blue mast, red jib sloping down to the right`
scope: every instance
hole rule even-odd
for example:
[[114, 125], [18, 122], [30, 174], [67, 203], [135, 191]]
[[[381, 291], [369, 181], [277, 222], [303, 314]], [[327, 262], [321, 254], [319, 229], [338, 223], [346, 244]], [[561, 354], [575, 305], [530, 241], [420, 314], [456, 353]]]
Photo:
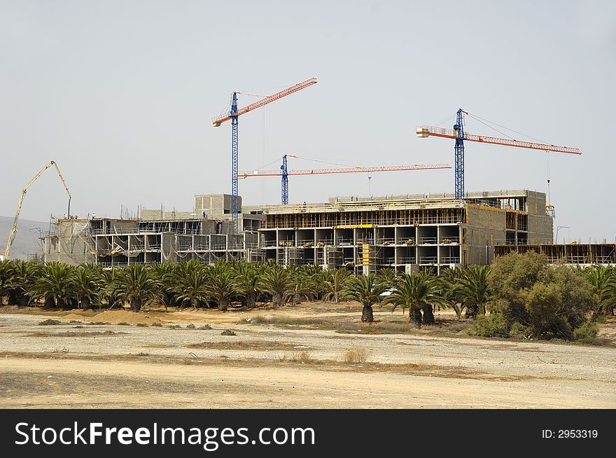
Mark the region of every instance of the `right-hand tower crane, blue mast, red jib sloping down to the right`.
[[[533, 141], [519, 141], [515, 139], [500, 139], [496, 137], [484, 137], [482, 135], [468, 134], [464, 131], [464, 115], [468, 112], [463, 109], [458, 109], [456, 113], [456, 123], [453, 130], [443, 129], [442, 127], [434, 127], [430, 125], [416, 126], [417, 137], [443, 137], [446, 139], [455, 139], [455, 170], [454, 170], [454, 191], [456, 199], [464, 198], [464, 141], [479, 141], [481, 143], [489, 143], [501, 146], [517, 146], [518, 148], [539, 149], [542, 151], [554, 151], [556, 153], [582, 154], [578, 148], [570, 148], [568, 146], [547, 145], [535, 143]], [[472, 116], [472, 115], [470, 115]]]

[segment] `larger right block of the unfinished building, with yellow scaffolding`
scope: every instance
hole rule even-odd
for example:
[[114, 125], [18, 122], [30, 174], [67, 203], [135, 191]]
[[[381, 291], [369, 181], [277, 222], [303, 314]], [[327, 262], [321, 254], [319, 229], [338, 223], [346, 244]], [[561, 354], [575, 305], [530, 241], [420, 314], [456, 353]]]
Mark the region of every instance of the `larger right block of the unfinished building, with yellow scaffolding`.
[[494, 244], [552, 240], [545, 194], [530, 190], [334, 197], [326, 204], [262, 207], [265, 259], [355, 272], [484, 265]]

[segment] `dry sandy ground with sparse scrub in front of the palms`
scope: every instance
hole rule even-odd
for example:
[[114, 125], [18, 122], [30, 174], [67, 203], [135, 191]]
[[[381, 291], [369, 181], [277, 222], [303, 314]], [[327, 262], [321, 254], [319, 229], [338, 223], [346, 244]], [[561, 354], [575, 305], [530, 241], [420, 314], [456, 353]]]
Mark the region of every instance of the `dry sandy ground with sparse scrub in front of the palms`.
[[[360, 309], [352, 304], [11, 311], [0, 314], [2, 408], [616, 408], [615, 347], [438, 335], [426, 327], [366, 335], [246, 321], [283, 314], [356, 322]], [[48, 318], [62, 324], [38, 326]], [[97, 321], [108, 324], [89, 324]], [[199, 329], [204, 323], [211, 329]], [[613, 337], [615, 328], [610, 321], [601, 335]], [[344, 362], [352, 349], [365, 349], [366, 361]]]

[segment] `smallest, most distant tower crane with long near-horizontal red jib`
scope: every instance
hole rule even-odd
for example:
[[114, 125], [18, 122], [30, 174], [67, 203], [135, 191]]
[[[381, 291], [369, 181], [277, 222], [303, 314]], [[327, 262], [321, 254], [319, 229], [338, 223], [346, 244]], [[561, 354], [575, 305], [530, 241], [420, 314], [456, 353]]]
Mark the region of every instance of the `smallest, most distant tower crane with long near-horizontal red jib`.
[[280, 176], [281, 177], [281, 204], [288, 204], [288, 176], [289, 175], [325, 175], [325, 174], [351, 174], [361, 172], [400, 172], [402, 170], [435, 170], [451, 169], [449, 164], [414, 164], [414, 165], [379, 165], [374, 167], [348, 167], [342, 169], [302, 169], [289, 170], [287, 158], [298, 158], [293, 154], [285, 154], [282, 157], [282, 165], [279, 170], [254, 170], [253, 172], [239, 172], [239, 178], [250, 176]]

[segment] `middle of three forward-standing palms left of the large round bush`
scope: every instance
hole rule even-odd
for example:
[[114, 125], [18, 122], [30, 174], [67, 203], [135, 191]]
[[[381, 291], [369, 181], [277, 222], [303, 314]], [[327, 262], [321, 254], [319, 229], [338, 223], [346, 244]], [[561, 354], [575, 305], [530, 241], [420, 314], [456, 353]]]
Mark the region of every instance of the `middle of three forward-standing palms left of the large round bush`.
[[[409, 321], [433, 324], [433, 305], [440, 303], [439, 285], [436, 277], [429, 270], [422, 270], [412, 275], [402, 274], [395, 282], [395, 291], [385, 298], [386, 303], [402, 307], [402, 312], [409, 309]], [[421, 312], [423, 311], [423, 317]]]

